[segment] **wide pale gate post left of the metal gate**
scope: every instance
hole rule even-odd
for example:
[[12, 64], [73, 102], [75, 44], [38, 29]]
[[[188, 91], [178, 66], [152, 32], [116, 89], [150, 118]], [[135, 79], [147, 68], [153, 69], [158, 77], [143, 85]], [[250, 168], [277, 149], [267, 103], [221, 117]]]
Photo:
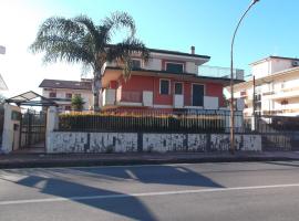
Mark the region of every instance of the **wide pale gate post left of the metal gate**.
[[9, 154], [19, 148], [21, 108], [4, 104], [4, 124], [0, 152]]

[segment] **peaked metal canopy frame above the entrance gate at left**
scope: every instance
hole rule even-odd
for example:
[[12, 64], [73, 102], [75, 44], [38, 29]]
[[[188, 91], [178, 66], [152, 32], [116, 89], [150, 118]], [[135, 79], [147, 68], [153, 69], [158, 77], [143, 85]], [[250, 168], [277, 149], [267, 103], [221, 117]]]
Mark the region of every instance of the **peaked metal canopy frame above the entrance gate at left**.
[[[40, 101], [33, 101], [35, 98], [40, 98]], [[24, 106], [58, 106], [58, 104], [49, 99], [35, 92], [29, 91], [22, 94], [19, 94], [17, 96], [13, 96], [11, 98], [6, 99], [6, 103], [14, 103], [18, 106], [24, 105]]]

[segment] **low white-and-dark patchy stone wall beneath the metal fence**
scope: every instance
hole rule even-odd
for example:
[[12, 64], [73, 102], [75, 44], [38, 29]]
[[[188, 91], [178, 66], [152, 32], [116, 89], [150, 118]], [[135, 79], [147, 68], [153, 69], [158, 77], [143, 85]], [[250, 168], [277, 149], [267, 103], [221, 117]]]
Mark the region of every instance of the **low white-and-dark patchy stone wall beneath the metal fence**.
[[[52, 131], [48, 152], [227, 151], [228, 134]], [[236, 135], [236, 149], [261, 151], [260, 135]]]

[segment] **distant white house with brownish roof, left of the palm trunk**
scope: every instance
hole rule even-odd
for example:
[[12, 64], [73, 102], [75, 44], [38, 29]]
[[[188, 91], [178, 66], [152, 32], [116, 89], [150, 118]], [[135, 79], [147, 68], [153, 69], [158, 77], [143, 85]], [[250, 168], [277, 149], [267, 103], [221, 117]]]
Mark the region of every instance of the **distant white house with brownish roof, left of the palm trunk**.
[[92, 105], [92, 82], [82, 78], [81, 81], [43, 80], [40, 86], [42, 96], [54, 101], [61, 110], [71, 110], [73, 96], [81, 96], [84, 101], [84, 109]]

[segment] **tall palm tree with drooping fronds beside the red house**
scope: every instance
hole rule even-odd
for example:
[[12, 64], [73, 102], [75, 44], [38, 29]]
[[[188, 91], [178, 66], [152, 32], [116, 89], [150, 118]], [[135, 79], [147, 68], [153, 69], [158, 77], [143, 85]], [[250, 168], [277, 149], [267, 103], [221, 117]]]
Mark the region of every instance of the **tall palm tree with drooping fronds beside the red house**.
[[[112, 44], [115, 30], [122, 28], [128, 30], [127, 36]], [[41, 24], [30, 50], [32, 53], [45, 52], [44, 63], [66, 61], [82, 63], [83, 70], [92, 69], [93, 109], [100, 110], [99, 94], [104, 64], [115, 61], [127, 78], [132, 70], [132, 54], [141, 55], [145, 62], [150, 57], [150, 51], [135, 38], [135, 32], [134, 20], [125, 12], [114, 12], [99, 25], [85, 15], [72, 19], [52, 17]]]

